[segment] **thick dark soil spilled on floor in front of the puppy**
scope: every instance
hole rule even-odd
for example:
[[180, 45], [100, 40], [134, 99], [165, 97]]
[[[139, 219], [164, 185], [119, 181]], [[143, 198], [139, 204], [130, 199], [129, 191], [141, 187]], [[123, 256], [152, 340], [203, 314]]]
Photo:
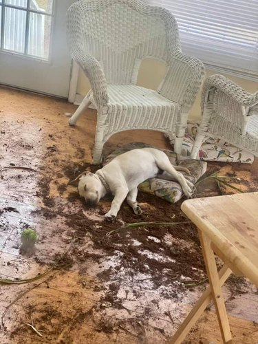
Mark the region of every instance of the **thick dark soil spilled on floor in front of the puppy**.
[[[99, 167], [72, 163], [63, 173], [69, 180], [73, 180], [83, 171], [95, 172]], [[171, 313], [166, 306], [159, 304], [159, 299], [166, 299], [168, 303], [189, 305], [193, 295], [200, 293], [206, 286], [197, 228], [194, 224], [187, 223], [189, 219], [180, 210], [181, 202], [169, 204], [157, 197], [139, 193], [142, 215], [135, 215], [127, 204], [123, 204], [116, 221], [106, 222], [104, 215], [110, 206], [111, 197], [106, 197], [96, 208], [87, 208], [84, 200], [78, 196], [76, 188], [68, 193], [65, 202], [60, 202], [60, 199], [50, 197], [47, 185], [44, 186], [41, 182], [39, 186], [44, 190], [41, 195], [46, 206], [41, 209], [40, 215], [46, 219], [63, 218], [65, 226], [72, 232], [73, 239], [69, 242], [71, 247], [63, 257], [63, 264], [67, 260], [67, 266], [69, 264], [71, 268], [72, 262], [72, 270], [78, 271], [81, 276], [94, 275], [101, 282], [97, 287], [103, 290], [100, 303], [87, 312], [87, 316], [94, 319], [95, 330], [109, 334], [122, 326], [140, 338], [143, 336], [142, 327], [147, 326], [150, 314], [153, 317], [163, 314], [172, 325], [181, 321], [184, 311], [175, 308]], [[63, 184], [63, 189], [59, 186], [61, 195], [66, 187], [67, 184]], [[217, 193], [220, 192], [217, 189]], [[125, 224], [153, 221], [179, 224], [124, 228]], [[60, 259], [57, 256], [56, 259], [58, 258]], [[245, 283], [244, 279], [229, 280], [232, 297], [243, 289]], [[144, 294], [142, 297], [144, 290], [152, 290], [155, 297], [150, 297], [150, 294]], [[137, 312], [131, 314], [132, 310], [138, 310], [138, 305], [133, 308], [136, 300], [140, 305], [140, 315], [137, 315]], [[158, 309], [153, 310], [156, 305]], [[126, 312], [127, 315], [119, 318], [121, 312]], [[43, 308], [41, 317], [45, 313], [47, 309]], [[77, 310], [76, 314], [85, 319], [83, 311]], [[58, 319], [59, 322], [62, 319], [60, 314]], [[71, 319], [63, 317], [60, 326], [67, 326], [70, 321]], [[141, 325], [139, 321], [142, 321]], [[156, 326], [162, 338], [166, 338], [169, 332], [165, 329], [164, 324]]]

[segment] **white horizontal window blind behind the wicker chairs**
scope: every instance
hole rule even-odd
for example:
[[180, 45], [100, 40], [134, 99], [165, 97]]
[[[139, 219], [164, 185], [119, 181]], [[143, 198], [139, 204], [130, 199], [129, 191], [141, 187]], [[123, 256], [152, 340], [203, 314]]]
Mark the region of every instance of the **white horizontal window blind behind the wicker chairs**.
[[258, 0], [147, 0], [171, 11], [185, 54], [258, 80]]

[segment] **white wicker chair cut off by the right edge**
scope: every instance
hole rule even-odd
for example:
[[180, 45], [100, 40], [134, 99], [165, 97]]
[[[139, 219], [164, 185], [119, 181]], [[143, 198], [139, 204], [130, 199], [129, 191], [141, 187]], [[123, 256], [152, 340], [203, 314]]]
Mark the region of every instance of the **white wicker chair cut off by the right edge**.
[[258, 92], [250, 94], [216, 74], [202, 89], [202, 122], [191, 158], [196, 159], [207, 136], [222, 138], [258, 156]]

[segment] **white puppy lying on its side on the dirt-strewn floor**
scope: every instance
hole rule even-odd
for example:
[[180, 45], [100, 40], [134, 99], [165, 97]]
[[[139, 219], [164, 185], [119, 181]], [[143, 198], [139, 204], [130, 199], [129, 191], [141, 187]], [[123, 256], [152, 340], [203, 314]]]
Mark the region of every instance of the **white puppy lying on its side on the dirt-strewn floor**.
[[96, 173], [83, 172], [76, 180], [79, 180], [78, 192], [85, 198], [87, 204], [98, 204], [100, 198], [108, 192], [114, 195], [111, 208], [105, 215], [105, 218], [111, 221], [116, 218], [126, 197], [134, 213], [140, 215], [142, 209], [136, 201], [138, 185], [149, 178], [161, 177], [164, 171], [169, 173], [169, 179], [179, 182], [186, 197], [190, 197], [193, 184], [176, 170], [189, 173], [184, 167], [172, 166], [164, 152], [153, 148], [142, 148], [118, 155]]

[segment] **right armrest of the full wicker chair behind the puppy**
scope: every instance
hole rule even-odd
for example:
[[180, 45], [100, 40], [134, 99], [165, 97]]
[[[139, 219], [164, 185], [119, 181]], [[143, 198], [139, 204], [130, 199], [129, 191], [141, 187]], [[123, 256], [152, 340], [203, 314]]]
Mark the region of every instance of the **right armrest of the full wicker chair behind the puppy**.
[[178, 103], [182, 113], [191, 109], [204, 80], [204, 65], [193, 56], [171, 53], [169, 69], [160, 87], [160, 94]]

